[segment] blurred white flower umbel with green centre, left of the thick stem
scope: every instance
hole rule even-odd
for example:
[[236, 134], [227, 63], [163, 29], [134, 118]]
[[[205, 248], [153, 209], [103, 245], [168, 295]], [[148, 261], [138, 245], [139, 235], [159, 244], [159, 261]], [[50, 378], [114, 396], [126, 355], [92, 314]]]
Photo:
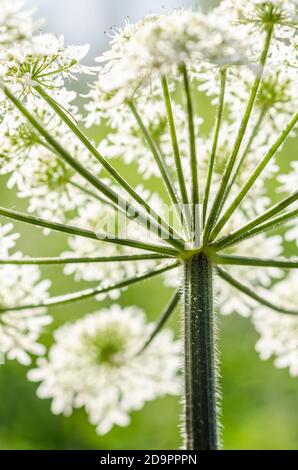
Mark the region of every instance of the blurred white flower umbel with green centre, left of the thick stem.
[[143, 353], [153, 324], [137, 307], [114, 305], [56, 331], [49, 358], [29, 372], [41, 381], [40, 398], [52, 398], [55, 414], [84, 407], [99, 434], [127, 426], [145, 402], [180, 391], [180, 343], [160, 333]]

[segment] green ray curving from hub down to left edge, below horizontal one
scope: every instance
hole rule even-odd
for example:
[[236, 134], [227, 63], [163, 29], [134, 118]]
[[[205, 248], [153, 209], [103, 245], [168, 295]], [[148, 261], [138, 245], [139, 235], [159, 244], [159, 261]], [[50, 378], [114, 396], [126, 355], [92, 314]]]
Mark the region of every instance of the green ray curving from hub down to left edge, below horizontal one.
[[124, 281], [118, 282], [116, 284], [112, 284], [111, 286], [108, 286], [108, 287], [97, 288], [97, 289], [85, 289], [85, 290], [75, 292], [72, 294], [66, 294], [66, 295], [62, 295], [59, 297], [52, 297], [51, 299], [45, 300], [44, 302], [40, 302], [38, 304], [32, 303], [32, 304], [27, 304], [27, 305], [17, 305], [14, 307], [2, 307], [0, 308], [0, 313], [16, 312], [16, 311], [22, 311], [22, 310], [28, 310], [28, 309], [33, 310], [33, 309], [39, 309], [43, 307], [57, 307], [57, 306], [62, 306], [62, 305], [66, 305], [66, 304], [70, 304], [74, 302], [81, 302], [83, 300], [96, 297], [97, 295], [100, 295], [100, 294], [106, 294], [107, 292], [111, 292], [117, 289], [123, 289], [125, 287], [131, 286], [138, 282], [151, 279], [152, 277], [158, 276], [159, 274], [163, 274], [167, 271], [178, 268], [178, 266], [180, 266], [180, 263], [170, 264], [163, 268], [158, 268], [158, 269], [149, 271], [145, 274], [128, 278]]

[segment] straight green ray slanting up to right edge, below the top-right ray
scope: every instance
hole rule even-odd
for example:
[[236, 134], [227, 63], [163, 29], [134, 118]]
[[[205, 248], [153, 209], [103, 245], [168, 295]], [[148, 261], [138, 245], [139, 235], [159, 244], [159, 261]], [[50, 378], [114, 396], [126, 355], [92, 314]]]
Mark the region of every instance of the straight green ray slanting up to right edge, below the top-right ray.
[[232, 204], [230, 205], [230, 207], [228, 207], [228, 209], [226, 210], [226, 212], [224, 213], [224, 215], [222, 216], [222, 218], [219, 220], [219, 222], [217, 223], [216, 227], [214, 228], [214, 230], [212, 231], [212, 234], [211, 234], [211, 241], [213, 241], [215, 239], [215, 237], [219, 234], [219, 232], [222, 230], [222, 228], [225, 226], [225, 224], [227, 223], [227, 221], [230, 219], [230, 217], [234, 214], [235, 210], [237, 209], [237, 207], [241, 204], [242, 200], [244, 199], [244, 197], [246, 196], [246, 194], [248, 193], [248, 191], [251, 189], [251, 187], [254, 185], [254, 183], [256, 182], [256, 180], [259, 178], [260, 174], [262, 173], [262, 171], [266, 168], [266, 166], [268, 165], [268, 163], [270, 162], [270, 160], [274, 157], [274, 155], [276, 154], [276, 152], [279, 150], [280, 146], [283, 144], [283, 142], [285, 141], [285, 139], [288, 137], [288, 135], [290, 134], [290, 132], [293, 130], [293, 128], [295, 127], [296, 123], [298, 121], [298, 113], [295, 113], [294, 117], [291, 119], [291, 121], [289, 122], [289, 124], [286, 126], [286, 128], [282, 131], [282, 133], [280, 134], [279, 138], [276, 140], [276, 142], [272, 145], [272, 147], [270, 148], [270, 150], [268, 151], [268, 153], [265, 155], [265, 157], [263, 158], [263, 160], [259, 163], [259, 165], [257, 166], [257, 168], [255, 169], [255, 171], [252, 173], [252, 175], [248, 178], [247, 182], [244, 184], [244, 186], [240, 189], [239, 193], [237, 194], [237, 196], [233, 199], [233, 202]]

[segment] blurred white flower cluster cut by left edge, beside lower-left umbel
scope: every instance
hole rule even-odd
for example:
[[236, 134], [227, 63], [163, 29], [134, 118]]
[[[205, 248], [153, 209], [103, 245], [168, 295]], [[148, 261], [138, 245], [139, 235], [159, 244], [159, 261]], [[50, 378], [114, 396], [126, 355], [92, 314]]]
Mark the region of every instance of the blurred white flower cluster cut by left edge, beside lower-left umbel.
[[[17, 234], [11, 233], [12, 225], [0, 225], [0, 254], [11, 255]], [[16, 253], [20, 256], [20, 253]], [[12, 257], [14, 255], [11, 255]], [[39, 269], [35, 266], [0, 266], [1, 308], [19, 304], [42, 302], [48, 297], [50, 282], [40, 280]], [[38, 343], [44, 327], [52, 318], [45, 308], [9, 311], [0, 314], [0, 353], [7, 359], [16, 359], [21, 364], [31, 363], [30, 355], [42, 355], [45, 347]]]

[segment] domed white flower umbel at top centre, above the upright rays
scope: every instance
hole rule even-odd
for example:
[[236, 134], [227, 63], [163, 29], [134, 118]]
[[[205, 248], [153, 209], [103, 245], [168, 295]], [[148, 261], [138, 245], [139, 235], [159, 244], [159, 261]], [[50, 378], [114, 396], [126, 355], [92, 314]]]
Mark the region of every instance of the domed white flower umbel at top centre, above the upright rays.
[[97, 61], [104, 65], [90, 96], [100, 98], [100, 103], [88, 106], [95, 117], [96, 111], [100, 116], [109, 103], [120, 104], [144, 89], [152, 90], [160, 74], [176, 76], [181, 64], [243, 63], [246, 55], [237, 31], [231, 34], [219, 17], [179, 9], [168, 16], [147, 16], [116, 30], [111, 50]]

